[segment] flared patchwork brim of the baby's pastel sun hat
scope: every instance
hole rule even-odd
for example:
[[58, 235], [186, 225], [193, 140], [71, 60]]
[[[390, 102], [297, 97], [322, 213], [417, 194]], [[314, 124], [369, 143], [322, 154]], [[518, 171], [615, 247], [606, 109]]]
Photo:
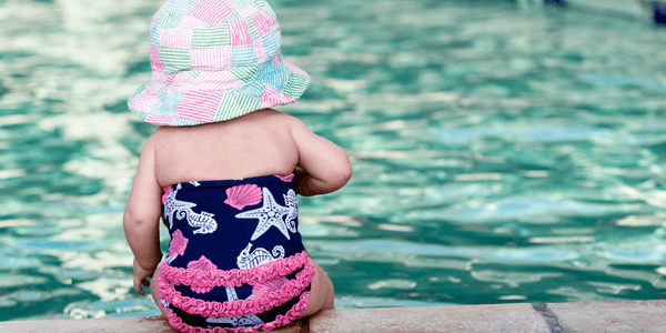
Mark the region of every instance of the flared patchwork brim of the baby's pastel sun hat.
[[[155, 87], [160, 85], [157, 81], [163, 82], [162, 87]], [[161, 78], [153, 73], [128, 105], [141, 120], [155, 125], [195, 125], [295, 102], [309, 85], [310, 77], [278, 53], [274, 61], [251, 68]]]

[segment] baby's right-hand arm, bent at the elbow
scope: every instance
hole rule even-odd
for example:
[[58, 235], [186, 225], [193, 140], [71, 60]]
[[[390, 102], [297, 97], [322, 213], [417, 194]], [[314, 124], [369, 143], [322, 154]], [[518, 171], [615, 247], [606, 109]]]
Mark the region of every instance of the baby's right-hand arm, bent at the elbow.
[[311, 196], [342, 188], [352, 176], [352, 163], [344, 150], [314, 134], [295, 118], [290, 124], [299, 149], [297, 167], [302, 169], [296, 169], [299, 194]]

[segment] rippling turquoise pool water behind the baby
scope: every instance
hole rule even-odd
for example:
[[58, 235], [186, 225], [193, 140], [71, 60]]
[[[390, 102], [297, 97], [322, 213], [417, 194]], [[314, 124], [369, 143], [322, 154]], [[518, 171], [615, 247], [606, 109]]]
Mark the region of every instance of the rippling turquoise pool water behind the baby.
[[[339, 307], [665, 299], [666, 30], [511, 1], [272, 4], [313, 81], [280, 110], [354, 165], [299, 201]], [[159, 6], [0, 0], [0, 321], [157, 313], [121, 221]]]

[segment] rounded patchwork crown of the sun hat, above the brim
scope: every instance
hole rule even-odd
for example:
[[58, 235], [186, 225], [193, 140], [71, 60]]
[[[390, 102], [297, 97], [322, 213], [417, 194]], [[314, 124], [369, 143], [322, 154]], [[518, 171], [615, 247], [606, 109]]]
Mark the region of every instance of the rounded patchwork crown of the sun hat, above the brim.
[[264, 0], [172, 0], [153, 16], [154, 72], [225, 71], [272, 59], [281, 46], [275, 12]]

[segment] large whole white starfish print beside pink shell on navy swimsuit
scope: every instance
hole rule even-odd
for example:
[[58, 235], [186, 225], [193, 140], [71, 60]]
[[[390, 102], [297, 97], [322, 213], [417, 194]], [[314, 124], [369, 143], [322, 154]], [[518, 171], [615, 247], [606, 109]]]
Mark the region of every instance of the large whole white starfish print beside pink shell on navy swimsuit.
[[264, 199], [263, 205], [260, 209], [236, 214], [236, 219], [259, 219], [259, 224], [252, 234], [251, 241], [264, 234], [271, 226], [278, 228], [287, 240], [291, 240], [286, 230], [286, 223], [282, 220], [284, 215], [289, 214], [289, 208], [278, 204], [269, 189], [263, 188], [262, 192]]

